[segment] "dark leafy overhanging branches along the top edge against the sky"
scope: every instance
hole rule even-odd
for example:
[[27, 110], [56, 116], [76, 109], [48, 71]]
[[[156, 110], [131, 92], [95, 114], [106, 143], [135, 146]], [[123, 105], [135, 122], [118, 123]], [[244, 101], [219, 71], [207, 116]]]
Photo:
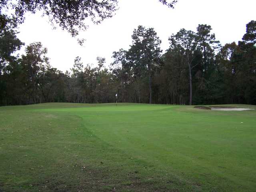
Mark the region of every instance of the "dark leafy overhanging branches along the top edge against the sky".
[[[168, 2], [159, 0], [162, 4], [174, 8], [177, 0]], [[41, 11], [48, 16], [55, 27], [60, 26], [67, 30], [72, 37], [78, 36], [81, 30], [86, 30], [90, 20], [100, 24], [104, 19], [111, 18], [118, 9], [118, 0], [2, 0], [0, 10], [13, 10], [13, 17], [18, 24], [25, 20], [26, 12], [36, 13]], [[78, 39], [83, 44], [84, 39]]]

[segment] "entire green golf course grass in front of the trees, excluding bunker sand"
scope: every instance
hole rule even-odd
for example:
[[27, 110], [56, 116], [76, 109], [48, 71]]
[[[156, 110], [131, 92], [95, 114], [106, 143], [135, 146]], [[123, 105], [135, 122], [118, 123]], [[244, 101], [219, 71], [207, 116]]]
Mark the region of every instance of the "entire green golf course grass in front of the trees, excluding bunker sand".
[[255, 146], [256, 110], [0, 107], [0, 192], [255, 191]]

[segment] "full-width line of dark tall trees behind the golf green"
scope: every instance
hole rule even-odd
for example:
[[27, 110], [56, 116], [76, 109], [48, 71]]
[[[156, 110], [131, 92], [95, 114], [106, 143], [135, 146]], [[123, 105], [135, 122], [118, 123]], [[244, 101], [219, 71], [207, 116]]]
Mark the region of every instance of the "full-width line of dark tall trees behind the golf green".
[[209, 25], [172, 34], [166, 52], [154, 28], [138, 26], [129, 50], [113, 52], [105, 68], [83, 66], [76, 57], [70, 72], [52, 68], [40, 42], [12, 56], [23, 43], [15, 22], [1, 15], [0, 105], [40, 102], [157, 104], [256, 104], [256, 21], [236, 44], [221, 46]]

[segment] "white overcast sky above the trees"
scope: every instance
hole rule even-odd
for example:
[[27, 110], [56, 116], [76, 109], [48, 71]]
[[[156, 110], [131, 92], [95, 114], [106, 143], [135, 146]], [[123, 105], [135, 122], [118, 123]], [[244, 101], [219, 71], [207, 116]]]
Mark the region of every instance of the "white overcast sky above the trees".
[[[168, 46], [168, 37], [181, 28], [196, 31], [198, 24], [212, 26], [216, 39], [224, 45], [238, 42], [246, 31], [246, 24], [256, 20], [256, 0], [179, 0], [174, 9], [158, 0], [119, 0], [119, 10], [112, 18], [99, 25], [90, 25], [80, 34], [84, 46], [60, 28], [52, 30], [47, 17], [40, 13], [26, 14], [19, 26], [18, 38], [26, 45], [40, 41], [48, 48], [50, 64], [59, 70], [72, 68], [74, 58], [80, 56], [84, 66], [96, 64], [96, 57], [112, 62], [112, 52], [128, 49], [132, 32], [138, 25], [153, 27], [162, 40], [162, 50]], [[24, 49], [23, 49], [24, 50]]]

